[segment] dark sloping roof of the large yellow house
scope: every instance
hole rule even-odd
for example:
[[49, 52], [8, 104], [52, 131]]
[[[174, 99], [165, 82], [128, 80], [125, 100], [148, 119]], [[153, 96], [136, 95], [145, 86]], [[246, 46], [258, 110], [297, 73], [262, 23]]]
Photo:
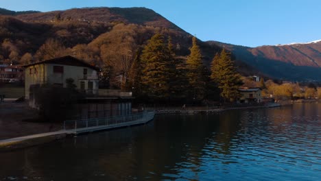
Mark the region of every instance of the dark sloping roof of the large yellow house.
[[83, 60], [80, 60], [78, 58], [74, 58], [73, 56], [63, 56], [60, 58], [53, 58], [53, 59], [49, 59], [49, 60], [43, 60], [40, 62], [36, 62], [33, 64], [27, 64], [23, 67], [27, 68], [30, 67], [32, 65], [36, 65], [36, 64], [64, 64], [64, 65], [71, 65], [71, 66], [78, 66], [78, 67], [88, 67], [91, 69], [94, 69], [96, 71], [99, 71], [98, 67], [95, 67], [91, 64], [88, 64], [86, 62], [84, 62]]

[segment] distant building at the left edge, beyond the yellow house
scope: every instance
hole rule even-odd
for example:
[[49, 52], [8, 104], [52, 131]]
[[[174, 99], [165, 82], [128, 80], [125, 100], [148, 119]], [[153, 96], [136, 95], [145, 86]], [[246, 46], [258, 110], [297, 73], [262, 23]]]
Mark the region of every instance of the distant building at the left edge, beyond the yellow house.
[[23, 67], [0, 64], [0, 82], [23, 82], [25, 80]]

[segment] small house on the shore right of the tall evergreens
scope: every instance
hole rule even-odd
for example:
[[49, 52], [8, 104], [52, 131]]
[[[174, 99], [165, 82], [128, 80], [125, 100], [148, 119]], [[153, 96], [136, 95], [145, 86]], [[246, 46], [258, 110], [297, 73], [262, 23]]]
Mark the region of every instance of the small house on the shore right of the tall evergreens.
[[261, 88], [239, 88], [239, 93], [241, 97], [239, 98], [240, 103], [261, 103], [262, 94]]

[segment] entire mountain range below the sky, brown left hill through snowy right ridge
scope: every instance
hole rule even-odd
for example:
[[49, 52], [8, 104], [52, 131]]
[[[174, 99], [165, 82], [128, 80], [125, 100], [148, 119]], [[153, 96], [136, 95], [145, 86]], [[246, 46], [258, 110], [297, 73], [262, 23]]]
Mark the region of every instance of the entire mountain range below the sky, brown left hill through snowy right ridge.
[[[73, 55], [91, 64], [110, 61], [112, 53], [134, 57], [154, 34], [171, 37], [175, 53], [189, 55], [191, 34], [147, 8], [75, 8], [53, 12], [13, 12], [0, 9], [0, 64], [23, 64], [54, 56]], [[58, 40], [54, 42], [52, 40]], [[215, 41], [198, 45], [209, 66], [215, 53], [233, 52], [243, 75], [283, 80], [321, 80], [320, 41], [306, 44], [242, 47]], [[125, 53], [124, 53], [125, 52]]]

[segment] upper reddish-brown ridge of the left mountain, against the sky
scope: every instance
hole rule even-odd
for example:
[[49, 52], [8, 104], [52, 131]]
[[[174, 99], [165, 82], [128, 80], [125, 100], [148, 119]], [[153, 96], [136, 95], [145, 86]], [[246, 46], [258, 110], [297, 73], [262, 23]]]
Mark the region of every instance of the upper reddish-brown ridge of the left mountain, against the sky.
[[42, 12], [36, 14], [21, 14], [18, 19], [27, 22], [49, 22], [55, 19], [55, 16], [73, 20], [88, 21], [97, 23], [134, 23], [153, 27], [166, 27], [170, 29], [180, 29], [174, 23], [171, 23], [160, 14], [147, 8], [75, 8], [64, 11]]

